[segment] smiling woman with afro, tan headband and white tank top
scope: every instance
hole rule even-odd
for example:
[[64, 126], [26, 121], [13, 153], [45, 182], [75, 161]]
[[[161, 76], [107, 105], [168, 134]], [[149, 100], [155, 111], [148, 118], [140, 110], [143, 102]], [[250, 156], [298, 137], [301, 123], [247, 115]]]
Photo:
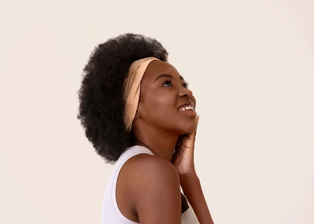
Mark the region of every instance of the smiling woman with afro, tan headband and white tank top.
[[157, 40], [127, 33], [95, 47], [84, 67], [78, 119], [115, 164], [102, 224], [213, 223], [194, 168], [196, 101], [167, 56]]

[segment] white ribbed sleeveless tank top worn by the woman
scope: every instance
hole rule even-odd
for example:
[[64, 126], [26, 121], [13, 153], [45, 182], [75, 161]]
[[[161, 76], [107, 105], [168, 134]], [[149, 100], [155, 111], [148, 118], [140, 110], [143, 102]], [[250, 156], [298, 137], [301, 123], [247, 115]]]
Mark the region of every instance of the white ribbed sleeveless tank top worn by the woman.
[[[127, 148], [117, 160], [109, 181], [107, 183], [103, 204], [102, 204], [102, 212], [101, 212], [101, 224], [138, 224], [139, 222], [134, 222], [129, 220], [127, 217], [122, 215], [121, 211], [118, 208], [116, 202], [116, 183], [118, 179], [119, 172], [123, 166], [123, 164], [131, 157], [140, 154], [140, 153], [148, 153], [154, 155], [152, 151], [144, 146], [132, 146]], [[183, 203], [188, 209], [187, 211], [181, 214], [181, 224], [199, 224], [198, 219], [188, 202], [187, 198], [181, 192], [181, 199]], [[187, 202], [187, 204], [185, 203]]]

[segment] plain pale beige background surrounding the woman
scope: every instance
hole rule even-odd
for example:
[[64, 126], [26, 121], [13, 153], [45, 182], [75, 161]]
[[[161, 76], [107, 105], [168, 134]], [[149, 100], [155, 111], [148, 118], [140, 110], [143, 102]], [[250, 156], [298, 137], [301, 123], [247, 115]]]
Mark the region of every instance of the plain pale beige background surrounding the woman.
[[90, 52], [154, 37], [200, 115], [215, 224], [314, 223], [313, 1], [18, 1], [1, 7], [0, 223], [100, 223], [113, 169], [76, 119]]

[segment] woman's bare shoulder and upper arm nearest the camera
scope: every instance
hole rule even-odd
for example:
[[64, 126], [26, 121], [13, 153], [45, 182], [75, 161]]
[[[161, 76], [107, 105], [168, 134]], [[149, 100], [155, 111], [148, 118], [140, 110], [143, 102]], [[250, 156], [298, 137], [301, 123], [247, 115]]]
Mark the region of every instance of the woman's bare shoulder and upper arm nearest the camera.
[[173, 164], [147, 153], [127, 162], [127, 186], [141, 224], [181, 223], [180, 178]]

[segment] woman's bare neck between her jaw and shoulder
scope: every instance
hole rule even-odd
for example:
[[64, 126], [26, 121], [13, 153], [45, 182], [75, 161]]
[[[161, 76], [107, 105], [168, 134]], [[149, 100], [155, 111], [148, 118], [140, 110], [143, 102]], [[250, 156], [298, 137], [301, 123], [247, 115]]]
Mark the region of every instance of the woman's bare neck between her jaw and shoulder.
[[144, 146], [155, 156], [163, 157], [171, 162], [179, 135], [171, 131], [149, 129], [136, 130], [134, 138], [133, 146]]

